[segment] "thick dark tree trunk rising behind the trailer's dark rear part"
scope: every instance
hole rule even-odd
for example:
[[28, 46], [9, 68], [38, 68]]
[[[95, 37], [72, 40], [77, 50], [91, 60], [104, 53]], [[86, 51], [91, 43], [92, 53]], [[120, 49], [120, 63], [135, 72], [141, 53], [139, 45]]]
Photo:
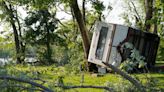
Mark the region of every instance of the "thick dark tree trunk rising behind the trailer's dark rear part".
[[145, 8], [146, 8], [145, 30], [149, 32], [151, 28], [150, 21], [153, 16], [153, 0], [145, 0]]

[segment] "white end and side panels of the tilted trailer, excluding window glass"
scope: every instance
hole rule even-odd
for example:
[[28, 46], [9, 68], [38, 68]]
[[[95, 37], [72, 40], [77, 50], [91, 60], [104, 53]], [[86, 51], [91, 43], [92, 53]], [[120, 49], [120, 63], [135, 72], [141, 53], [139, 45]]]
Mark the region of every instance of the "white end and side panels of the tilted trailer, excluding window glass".
[[[95, 56], [96, 56], [96, 49], [97, 49], [97, 45], [98, 45], [100, 30], [102, 27], [108, 27], [108, 34], [106, 37], [106, 43], [105, 43], [102, 60], [99, 60]], [[108, 24], [108, 23], [104, 23], [104, 22], [96, 23], [96, 26], [94, 28], [94, 33], [92, 36], [92, 42], [91, 42], [91, 47], [90, 47], [90, 51], [89, 51], [89, 56], [88, 56], [89, 62], [98, 64], [98, 65], [103, 65], [102, 62], [107, 62], [106, 60], [109, 60], [108, 63], [110, 63], [114, 66], [120, 65], [121, 56], [118, 53], [116, 47], [119, 45], [120, 42], [122, 42], [127, 37], [128, 27], [116, 25], [113, 43], [112, 43], [112, 46], [110, 46], [111, 45], [110, 42], [112, 42], [111, 37], [112, 37], [113, 28], [114, 28], [113, 24]], [[110, 49], [111, 49], [111, 51], [110, 51]]]

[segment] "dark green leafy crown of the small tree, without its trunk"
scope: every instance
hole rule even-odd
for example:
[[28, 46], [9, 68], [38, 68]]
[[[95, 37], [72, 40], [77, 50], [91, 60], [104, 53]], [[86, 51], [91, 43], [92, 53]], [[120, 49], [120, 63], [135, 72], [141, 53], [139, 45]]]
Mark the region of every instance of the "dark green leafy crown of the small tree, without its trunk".
[[27, 25], [26, 37], [29, 43], [45, 43], [47, 40], [47, 33], [50, 32], [51, 42], [55, 40], [53, 37], [57, 37], [54, 34], [57, 28], [57, 19], [55, 15], [51, 15], [48, 10], [39, 10], [34, 12], [29, 12], [29, 16], [25, 19], [25, 24]]

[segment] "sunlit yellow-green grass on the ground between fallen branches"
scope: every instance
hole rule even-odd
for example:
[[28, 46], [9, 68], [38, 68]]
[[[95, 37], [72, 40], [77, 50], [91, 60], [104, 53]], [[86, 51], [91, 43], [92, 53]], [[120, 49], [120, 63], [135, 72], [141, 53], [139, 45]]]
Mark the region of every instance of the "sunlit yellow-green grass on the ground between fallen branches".
[[[20, 73], [26, 74], [30, 77], [40, 78], [45, 80], [45, 86], [52, 87], [57, 83], [59, 77], [62, 77], [65, 85], [97, 85], [106, 86], [107, 84], [119, 84], [124, 81], [121, 76], [113, 73], [106, 74], [104, 76], [97, 77], [90, 73], [78, 73], [74, 74], [70, 71], [66, 71], [64, 67], [55, 66], [24, 66], [24, 65], [10, 65], [5, 67], [9, 75], [15, 76]], [[22, 76], [22, 75], [21, 75]], [[84, 76], [84, 79], [82, 78]], [[146, 83], [146, 78], [153, 78], [155, 80], [155, 87], [164, 89], [164, 72], [150, 73], [150, 74], [132, 74], [132, 76], [138, 77], [143, 83]], [[145, 77], [147, 76], [147, 77]], [[83, 82], [82, 82], [83, 81]], [[118, 87], [119, 88], [119, 87]], [[60, 90], [60, 89], [59, 89]], [[58, 90], [58, 91], [59, 91]], [[63, 90], [60, 90], [63, 91]], [[66, 92], [104, 92], [100, 89], [72, 89], [65, 90]]]

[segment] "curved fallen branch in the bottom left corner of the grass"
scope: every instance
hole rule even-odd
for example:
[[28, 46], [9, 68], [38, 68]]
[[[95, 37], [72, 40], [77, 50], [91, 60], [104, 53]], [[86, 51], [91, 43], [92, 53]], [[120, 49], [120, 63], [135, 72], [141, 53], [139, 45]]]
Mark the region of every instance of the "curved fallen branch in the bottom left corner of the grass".
[[30, 80], [24, 80], [21, 78], [16, 78], [16, 77], [11, 77], [11, 76], [0, 76], [0, 79], [1, 80], [13, 80], [13, 81], [18, 81], [18, 82], [28, 83], [28, 84], [31, 84], [33, 86], [36, 86], [36, 87], [43, 89], [45, 92], [53, 92], [53, 90], [51, 90], [45, 86], [42, 86], [41, 84], [38, 84], [36, 82], [30, 81]]

